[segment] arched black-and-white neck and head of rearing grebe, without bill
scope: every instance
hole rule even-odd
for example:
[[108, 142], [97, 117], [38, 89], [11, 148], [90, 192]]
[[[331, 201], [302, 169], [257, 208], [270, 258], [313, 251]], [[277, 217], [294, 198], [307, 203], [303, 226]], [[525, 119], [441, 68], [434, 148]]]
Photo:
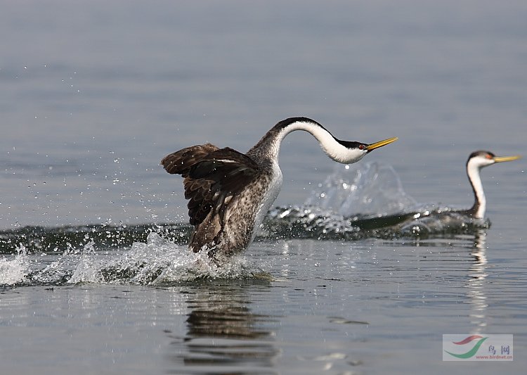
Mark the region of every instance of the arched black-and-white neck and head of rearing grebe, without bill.
[[[247, 152], [247, 155], [261, 155], [271, 160], [278, 160], [282, 140], [290, 132], [304, 130], [317, 139], [327, 156], [338, 163], [355, 163], [367, 153], [365, 149], [350, 148], [341, 144], [318, 122], [306, 117], [293, 117], [278, 122], [263, 138]], [[358, 143], [357, 143], [358, 144]]]

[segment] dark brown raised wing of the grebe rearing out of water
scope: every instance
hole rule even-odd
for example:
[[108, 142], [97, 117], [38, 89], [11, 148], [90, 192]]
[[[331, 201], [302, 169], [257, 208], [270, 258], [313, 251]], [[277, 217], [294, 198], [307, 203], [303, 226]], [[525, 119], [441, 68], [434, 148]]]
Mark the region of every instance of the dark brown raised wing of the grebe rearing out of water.
[[203, 222], [211, 211], [223, 224], [233, 196], [259, 173], [258, 165], [247, 155], [211, 144], [184, 148], [167, 155], [161, 163], [167, 172], [185, 177], [185, 198], [193, 225]]

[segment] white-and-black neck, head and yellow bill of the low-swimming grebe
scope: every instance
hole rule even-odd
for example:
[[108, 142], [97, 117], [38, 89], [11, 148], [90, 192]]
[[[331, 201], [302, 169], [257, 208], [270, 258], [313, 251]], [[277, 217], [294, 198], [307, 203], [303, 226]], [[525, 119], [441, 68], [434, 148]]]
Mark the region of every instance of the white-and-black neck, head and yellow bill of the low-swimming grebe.
[[483, 217], [485, 217], [487, 201], [485, 193], [483, 192], [481, 177], [479, 175], [481, 168], [519, 158], [521, 158], [519, 155], [496, 156], [490, 151], [474, 151], [469, 155], [469, 159], [467, 160], [467, 176], [469, 177], [472, 190], [474, 191], [474, 205], [472, 205], [469, 210], [464, 211], [467, 215], [474, 217], [475, 219], [483, 219]]

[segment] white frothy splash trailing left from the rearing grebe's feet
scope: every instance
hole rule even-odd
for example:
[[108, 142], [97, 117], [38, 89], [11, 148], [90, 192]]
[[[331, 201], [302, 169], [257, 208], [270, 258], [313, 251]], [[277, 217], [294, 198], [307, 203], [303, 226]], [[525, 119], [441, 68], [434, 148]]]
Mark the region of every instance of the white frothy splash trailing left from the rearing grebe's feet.
[[245, 257], [218, 262], [154, 231], [145, 242], [119, 250], [98, 250], [90, 240], [82, 248], [68, 248], [61, 255], [35, 256], [21, 248], [11, 260], [0, 258], [0, 285], [166, 285], [205, 278], [253, 278], [263, 273], [261, 265]]

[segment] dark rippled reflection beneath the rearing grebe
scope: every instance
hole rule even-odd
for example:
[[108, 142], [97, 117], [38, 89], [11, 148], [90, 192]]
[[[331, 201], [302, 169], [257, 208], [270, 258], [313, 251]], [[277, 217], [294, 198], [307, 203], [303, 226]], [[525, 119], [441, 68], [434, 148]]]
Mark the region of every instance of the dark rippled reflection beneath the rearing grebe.
[[[250, 288], [251, 295], [244, 288]], [[256, 285], [261, 293], [267, 288]], [[255, 291], [254, 280], [204, 281], [183, 287], [190, 312], [183, 343], [174, 342], [181, 346], [174, 360], [187, 370], [193, 367], [193, 372], [207, 373], [214, 367], [214, 371], [221, 368], [236, 374], [267, 373], [279, 350], [273, 345], [274, 332], [267, 327], [273, 317], [249, 308], [259, 291]]]

